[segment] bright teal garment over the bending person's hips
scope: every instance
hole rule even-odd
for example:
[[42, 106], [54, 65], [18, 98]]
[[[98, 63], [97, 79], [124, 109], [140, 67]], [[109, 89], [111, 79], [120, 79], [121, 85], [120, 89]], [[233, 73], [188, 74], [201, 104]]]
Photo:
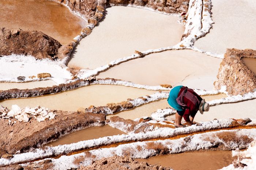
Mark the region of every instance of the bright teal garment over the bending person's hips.
[[181, 87], [182, 86], [173, 87], [173, 89], [170, 91], [169, 98], [167, 99], [167, 101], [170, 104], [170, 106], [172, 106], [174, 109], [176, 109], [178, 111], [182, 111], [183, 110], [183, 108], [176, 101]]

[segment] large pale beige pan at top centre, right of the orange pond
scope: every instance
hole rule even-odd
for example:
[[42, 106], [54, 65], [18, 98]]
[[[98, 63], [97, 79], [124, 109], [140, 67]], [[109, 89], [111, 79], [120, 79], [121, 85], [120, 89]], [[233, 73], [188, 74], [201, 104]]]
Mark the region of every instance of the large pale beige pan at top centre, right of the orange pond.
[[76, 46], [68, 66], [97, 68], [135, 50], [173, 46], [184, 32], [177, 20], [146, 9], [109, 7], [105, 18]]

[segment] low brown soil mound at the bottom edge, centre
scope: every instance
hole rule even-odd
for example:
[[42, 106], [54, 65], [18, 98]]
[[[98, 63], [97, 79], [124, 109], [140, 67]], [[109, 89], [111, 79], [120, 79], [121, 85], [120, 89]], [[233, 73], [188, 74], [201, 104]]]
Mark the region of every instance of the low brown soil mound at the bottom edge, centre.
[[169, 170], [171, 168], [161, 165], [150, 165], [146, 162], [135, 161], [130, 157], [110, 157], [95, 161], [92, 165], [87, 167], [80, 167], [79, 170], [107, 170], [107, 169], [136, 169], [136, 170]]

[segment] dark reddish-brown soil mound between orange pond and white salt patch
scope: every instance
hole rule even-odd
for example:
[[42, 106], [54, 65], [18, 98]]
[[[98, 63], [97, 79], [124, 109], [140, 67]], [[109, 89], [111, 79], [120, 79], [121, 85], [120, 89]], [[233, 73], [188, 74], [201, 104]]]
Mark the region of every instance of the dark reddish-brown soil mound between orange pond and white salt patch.
[[59, 41], [39, 31], [0, 28], [0, 55], [23, 54], [57, 59]]

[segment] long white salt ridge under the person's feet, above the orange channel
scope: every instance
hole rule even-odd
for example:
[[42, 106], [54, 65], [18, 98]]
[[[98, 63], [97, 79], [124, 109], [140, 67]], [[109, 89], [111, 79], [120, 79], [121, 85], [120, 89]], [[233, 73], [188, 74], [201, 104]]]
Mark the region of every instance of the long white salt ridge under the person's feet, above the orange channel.
[[[118, 142], [129, 142], [129, 141], [138, 141], [149, 138], [167, 138], [176, 136], [179, 134], [189, 134], [198, 131], [211, 130], [211, 129], [221, 129], [226, 128], [231, 125], [234, 120], [212, 120], [208, 122], [200, 122], [200, 124], [193, 124], [192, 126], [183, 127], [183, 128], [159, 128], [156, 127], [153, 131], [148, 131], [147, 133], [131, 133], [131, 134], [122, 134], [114, 135], [109, 137], [103, 137], [98, 139], [91, 139], [87, 141], [80, 141], [77, 143], [71, 143], [69, 145], [59, 145], [55, 147], [44, 147], [43, 149], [35, 149], [31, 152], [16, 154], [11, 159], [0, 159], [0, 166], [6, 166], [14, 163], [32, 161], [39, 158], [47, 158], [53, 155], [61, 155], [65, 153], [71, 153], [76, 150], [87, 149], [91, 147], [97, 147], [101, 145], [108, 145], [111, 143]], [[256, 119], [252, 119], [252, 122], [256, 122]]]

